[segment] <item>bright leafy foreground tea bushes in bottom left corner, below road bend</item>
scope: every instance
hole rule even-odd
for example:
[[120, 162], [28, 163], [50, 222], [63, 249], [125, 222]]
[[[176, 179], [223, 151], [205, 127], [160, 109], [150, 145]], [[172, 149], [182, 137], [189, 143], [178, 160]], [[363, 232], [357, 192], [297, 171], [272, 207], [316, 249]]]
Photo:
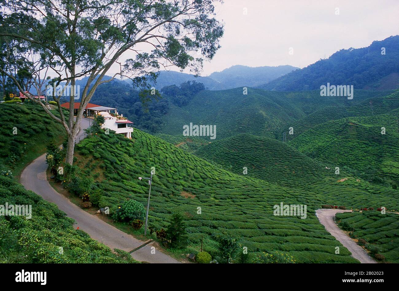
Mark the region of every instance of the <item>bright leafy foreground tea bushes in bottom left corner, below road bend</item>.
[[[73, 228], [74, 220], [9, 177], [0, 175], [0, 205], [31, 205], [32, 218], [0, 216], [0, 263], [123, 263], [107, 246]], [[120, 251], [120, 254], [127, 254]]]

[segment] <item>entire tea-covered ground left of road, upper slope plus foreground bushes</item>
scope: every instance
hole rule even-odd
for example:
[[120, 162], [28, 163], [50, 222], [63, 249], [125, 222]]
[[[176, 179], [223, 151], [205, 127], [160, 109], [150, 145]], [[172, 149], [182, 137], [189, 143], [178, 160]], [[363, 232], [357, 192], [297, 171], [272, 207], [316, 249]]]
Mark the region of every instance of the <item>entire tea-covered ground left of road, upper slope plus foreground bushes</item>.
[[39, 105], [28, 103], [0, 104], [0, 119], [0, 205], [32, 206], [30, 219], [0, 216], [0, 263], [136, 262], [126, 252], [118, 251], [117, 256], [87, 233], [75, 230], [73, 219], [13, 178], [51, 142], [61, 143], [61, 124]]

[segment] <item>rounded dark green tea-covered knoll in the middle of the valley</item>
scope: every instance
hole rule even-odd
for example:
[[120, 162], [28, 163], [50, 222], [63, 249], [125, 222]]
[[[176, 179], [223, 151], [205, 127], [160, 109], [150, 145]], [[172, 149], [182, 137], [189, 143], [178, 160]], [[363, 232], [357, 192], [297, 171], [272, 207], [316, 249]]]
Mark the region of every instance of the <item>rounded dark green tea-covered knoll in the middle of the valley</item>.
[[250, 134], [237, 134], [201, 147], [196, 155], [223, 165], [226, 169], [278, 185], [302, 188], [315, 180], [330, 177], [336, 180], [333, 170], [300, 153], [296, 149], [272, 138]]

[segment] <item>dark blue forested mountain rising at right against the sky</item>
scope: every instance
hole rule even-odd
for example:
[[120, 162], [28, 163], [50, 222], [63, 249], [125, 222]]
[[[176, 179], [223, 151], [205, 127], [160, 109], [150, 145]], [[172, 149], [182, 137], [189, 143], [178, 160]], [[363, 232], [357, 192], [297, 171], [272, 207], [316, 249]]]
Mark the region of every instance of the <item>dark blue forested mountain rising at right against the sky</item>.
[[293, 71], [265, 85], [267, 90], [316, 90], [327, 83], [357, 89], [399, 88], [399, 35], [373, 41], [368, 47], [341, 49], [328, 59]]

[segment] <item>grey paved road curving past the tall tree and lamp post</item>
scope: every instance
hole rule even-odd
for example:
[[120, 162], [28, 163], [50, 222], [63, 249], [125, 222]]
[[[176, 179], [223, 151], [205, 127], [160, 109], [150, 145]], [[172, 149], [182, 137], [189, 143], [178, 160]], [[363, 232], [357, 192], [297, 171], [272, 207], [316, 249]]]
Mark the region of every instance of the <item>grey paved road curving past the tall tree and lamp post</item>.
[[[81, 127], [84, 129], [88, 126], [89, 120], [83, 118]], [[84, 131], [80, 130], [76, 142], [79, 142], [83, 138]], [[43, 197], [43, 199], [57, 204], [59, 209], [76, 221], [75, 228], [79, 227], [79, 229], [87, 232], [94, 240], [109, 246], [111, 250], [118, 248], [130, 252], [145, 243], [107, 224], [97, 216], [85, 212], [71, 203], [65, 196], [56, 192], [47, 181], [46, 170], [47, 164], [45, 161], [45, 154], [43, 154], [24, 169], [21, 174], [21, 184], [24, 185], [26, 189], [32, 190]], [[150, 242], [142, 248], [139, 248], [133, 252], [131, 256], [140, 262], [180, 263], [174, 258], [160, 252], [155, 246], [155, 249], [152, 249], [153, 243], [154, 242]], [[155, 254], [151, 254], [151, 251], [154, 253], [154, 250]]]

